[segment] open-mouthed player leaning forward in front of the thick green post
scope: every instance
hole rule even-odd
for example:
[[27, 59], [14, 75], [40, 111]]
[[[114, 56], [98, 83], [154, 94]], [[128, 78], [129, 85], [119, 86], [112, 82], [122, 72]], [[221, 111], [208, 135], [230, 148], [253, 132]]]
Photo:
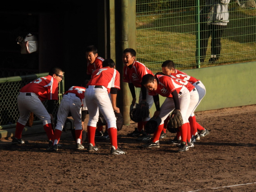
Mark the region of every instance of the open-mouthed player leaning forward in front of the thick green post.
[[[148, 95], [148, 90], [146, 87], [142, 85], [142, 77], [146, 74], [151, 74], [151, 70], [146, 68], [146, 66], [137, 60], [135, 60], [136, 57], [136, 51], [127, 48], [123, 51], [123, 82], [128, 82], [131, 94], [133, 96], [132, 104], [135, 105], [136, 103], [136, 94], [135, 94], [135, 88], [134, 87], [140, 87], [140, 96], [139, 96], [139, 102], [146, 101], [149, 105], [149, 109], [153, 105], [153, 97], [151, 95]], [[143, 127], [145, 130], [146, 122], [150, 119], [150, 117], [142, 119], [141, 122], [138, 122], [138, 128], [135, 128], [135, 131], [132, 133], [128, 133], [128, 137], [138, 137], [140, 134], [142, 134], [141, 137], [137, 138], [137, 141], [149, 141], [151, 139], [151, 136], [147, 134], [146, 132], [142, 131]]]

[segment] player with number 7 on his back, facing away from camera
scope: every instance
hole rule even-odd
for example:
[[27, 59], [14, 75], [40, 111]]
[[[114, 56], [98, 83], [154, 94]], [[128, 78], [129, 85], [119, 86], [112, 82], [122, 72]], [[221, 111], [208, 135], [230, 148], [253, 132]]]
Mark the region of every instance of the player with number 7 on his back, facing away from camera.
[[[99, 119], [99, 110], [103, 114], [108, 127], [110, 136], [111, 150], [110, 154], [124, 155], [125, 151], [118, 148], [117, 145], [117, 127], [114, 111], [120, 112], [116, 107], [117, 91], [120, 89], [120, 74], [114, 69], [114, 61], [105, 59], [101, 69], [96, 69], [87, 83], [85, 91], [85, 101], [89, 112], [89, 122], [87, 124], [88, 147], [87, 151], [98, 151], [94, 137], [96, 124]], [[108, 94], [111, 94], [111, 101]], [[111, 105], [112, 102], [112, 105]]]

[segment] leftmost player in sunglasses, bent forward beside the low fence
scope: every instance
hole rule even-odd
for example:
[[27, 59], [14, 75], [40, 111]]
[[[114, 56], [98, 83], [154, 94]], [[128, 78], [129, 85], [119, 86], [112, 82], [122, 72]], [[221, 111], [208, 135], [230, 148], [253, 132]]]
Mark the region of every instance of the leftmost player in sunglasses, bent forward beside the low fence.
[[[52, 144], [52, 111], [54, 100], [59, 99], [58, 84], [62, 78], [62, 70], [55, 67], [50, 69], [49, 75], [46, 77], [38, 78], [21, 88], [17, 98], [20, 117], [16, 124], [15, 135], [12, 141], [13, 144], [25, 143], [25, 141], [21, 139], [21, 134], [27, 123], [30, 112], [33, 112], [43, 121], [43, 126], [49, 139], [49, 145]], [[42, 104], [42, 101], [45, 100], [48, 100], [48, 111]]]

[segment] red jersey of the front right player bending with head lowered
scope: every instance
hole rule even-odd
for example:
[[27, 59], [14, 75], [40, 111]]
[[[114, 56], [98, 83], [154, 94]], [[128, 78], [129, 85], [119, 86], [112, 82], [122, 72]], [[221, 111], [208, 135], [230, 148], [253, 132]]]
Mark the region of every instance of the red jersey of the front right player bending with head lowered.
[[172, 92], [176, 90], [179, 93], [183, 87], [181, 83], [166, 75], [155, 75], [155, 78], [158, 79], [159, 83], [155, 91], [148, 91], [151, 96], [159, 94], [160, 96], [172, 98]]

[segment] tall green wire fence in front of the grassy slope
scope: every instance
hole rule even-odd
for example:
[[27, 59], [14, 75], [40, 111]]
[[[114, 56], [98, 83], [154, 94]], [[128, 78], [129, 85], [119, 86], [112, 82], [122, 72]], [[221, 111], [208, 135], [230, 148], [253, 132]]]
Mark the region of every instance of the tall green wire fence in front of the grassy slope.
[[[200, 37], [200, 31], [210, 32], [209, 28], [203, 27], [206, 22], [199, 20], [200, 10], [206, 8], [206, 2], [213, 1], [220, 2], [136, 0], [137, 60], [146, 64], [152, 71], [160, 70], [161, 64], [168, 59], [173, 60], [178, 68], [209, 65], [212, 36], [208, 40], [205, 59], [199, 60], [202, 53], [200, 51], [201, 55], [196, 56], [196, 52], [198, 54], [199, 46], [202, 48], [199, 42], [205, 38]], [[238, 63], [256, 59], [255, 7], [255, 0], [230, 0], [229, 23], [223, 30], [221, 46], [215, 46], [221, 48], [215, 63]]]

